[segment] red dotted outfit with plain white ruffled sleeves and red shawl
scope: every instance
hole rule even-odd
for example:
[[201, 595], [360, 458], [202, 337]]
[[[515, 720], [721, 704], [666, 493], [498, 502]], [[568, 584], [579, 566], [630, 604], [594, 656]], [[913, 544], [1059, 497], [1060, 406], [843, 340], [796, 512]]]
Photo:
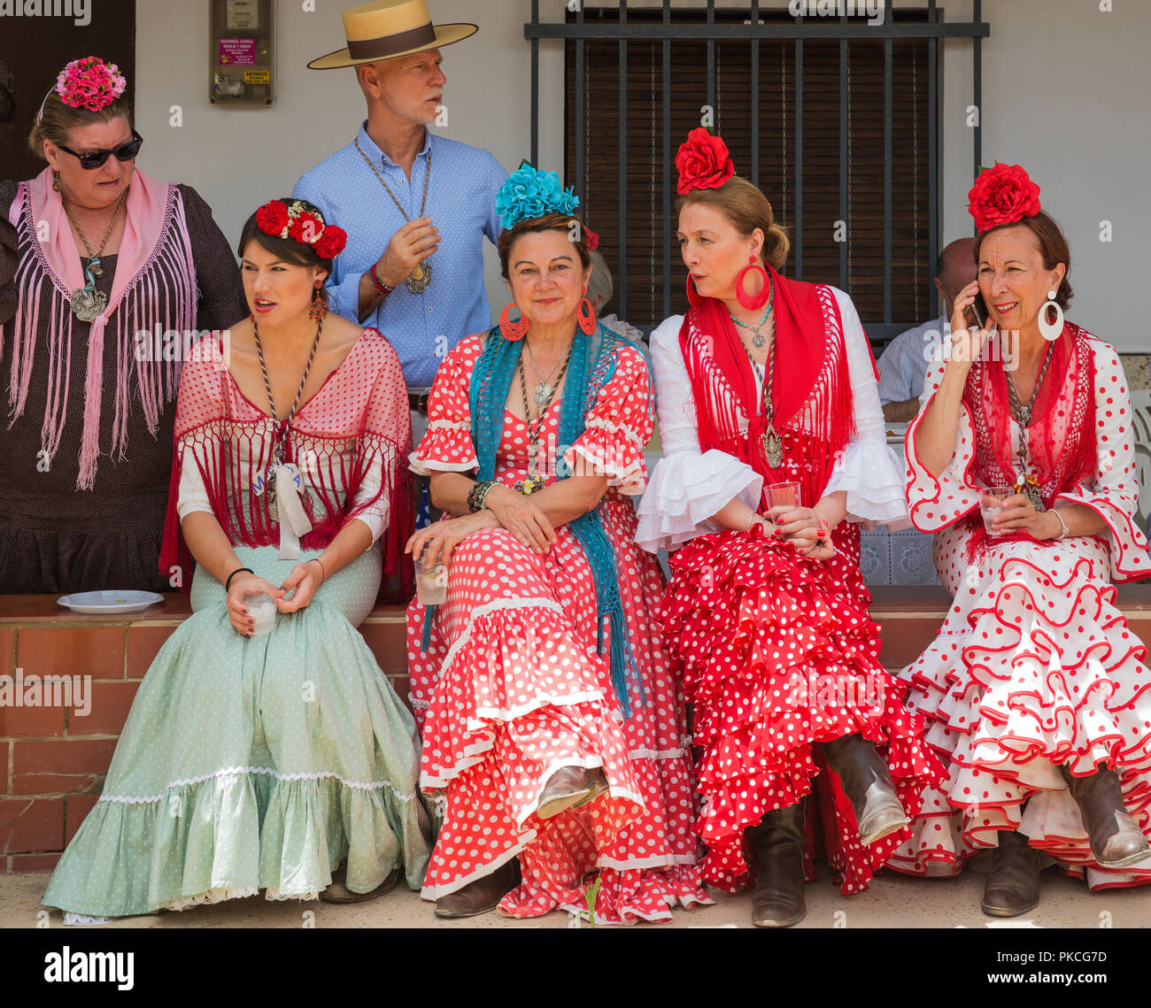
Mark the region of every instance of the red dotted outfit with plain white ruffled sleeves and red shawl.
[[[866, 336], [846, 295], [773, 278], [780, 336], [802, 333], [822, 348], [800, 418], [779, 421], [777, 410], [783, 465], [768, 469], [747, 446], [747, 410], [716, 359], [723, 337], [706, 331], [695, 310], [686, 324], [669, 319], [651, 337], [664, 458], [640, 505], [639, 541], [651, 550], [681, 547], [671, 558], [663, 632], [694, 704], [706, 881], [729, 892], [748, 883], [745, 831], [814, 793], [807, 875], [815, 878], [814, 857], [824, 853], [846, 894], [867, 888], [907, 830], [864, 848], [854, 810], [815, 743], [856, 732], [875, 742], [909, 814], [943, 771], [922, 741], [921, 719], [904, 709], [906, 686], [879, 664], [879, 628], [859, 570], [859, 522], [906, 524]], [[750, 382], [739, 350], [730, 359], [744, 358]], [[704, 391], [693, 387], [685, 353]], [[778, 375], [788, 373], [784, 360]], [[701, 444], [704, 398], [731, 450]], [[854, 434], [837, 445], [832, 430], [844, 403]], [[788, 480], [805, 487], [807, 506], [846, 491], [847, 518], [832, 532], [837, 555], [825, 563], [759, 527], [719, 530], [709, 520], [735, 498], [765, 513], [764, 483]]]

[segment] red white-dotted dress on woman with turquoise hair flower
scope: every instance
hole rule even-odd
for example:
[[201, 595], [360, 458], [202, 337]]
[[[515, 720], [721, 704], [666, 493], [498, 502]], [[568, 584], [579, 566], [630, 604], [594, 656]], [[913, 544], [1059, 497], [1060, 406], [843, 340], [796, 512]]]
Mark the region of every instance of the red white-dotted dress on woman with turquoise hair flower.
[[[428, 433], [412, 455], [417, 473], [477, 469], [468, 388], [481, 337], [463, 341], [436, 375]], [[421, 786], [443, 791], [447, 812], [424, 886], [452, 893], [519, 857], [523, 884], [500, 904], [513, 917], [561, 907], [587, 910], [599, 869], [599, 923], [668, 921], [677, 902], [710, 902], [700, 884], [695, 811], [683, 697], [660, 647], [654, 611], [663, 591], [655, 559], [633, 542], [628, 496], [646, 483], [643, 445], [653, 429], [650, 382], [640, 351], [618, 350], [615, 374], [565, 452], [601, 466], [609, 489], [599, 510], [615, 548], [619, 594], [643, 695], [619, 713], [607, 651], [596, 654], [592, 570], [571, 530], [538, 556], [504, 529], [470, 535], [455, 550], [448, 596], [421, 649], [425, 609], [407, 611], [411, 697], [421, 723]], [[558, 400], [544, 443], [555, 444]], [[495, 479], [527, 474], [527, 426], [505, 413]], [[555, 482], [554, 466], [547, 482]], [[610, 789], [579, 809], [541, 820], [535, 807], [562, 766], [600, 766]]]

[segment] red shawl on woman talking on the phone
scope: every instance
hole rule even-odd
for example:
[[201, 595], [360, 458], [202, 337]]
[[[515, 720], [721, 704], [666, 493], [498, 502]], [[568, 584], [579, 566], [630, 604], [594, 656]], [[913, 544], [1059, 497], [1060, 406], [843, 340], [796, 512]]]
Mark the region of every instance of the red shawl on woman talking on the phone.
[[[1039, 480], [1047, 507], [1076, 483], [1089, 482], [1096, 469], [1095, 362], [1088, 335], [1085, 329], [1067, 322], [1051, 344], [1051, 362], [1027, 430], [1031, 472]], [[975, 428], [973, 471], [986, 487], [1014, 486], [1019, 475], [1019, 459], [1012, 450], [1011, 400], [1004, 372], [1005, 358], [1009, 358], [1012, 349], [1005, 346], [999, 353], [988, 354], [989, 359], [973, 364], [963, 388], [963, 402], [970, 410]], [[968, 542], [970, 560], [988, 535], [978, 513], [970, 517], [969, 524], [974, 529]], [[994, 543], [1030, 539], [1028, 533], [1016, 532], [994, 536]]]

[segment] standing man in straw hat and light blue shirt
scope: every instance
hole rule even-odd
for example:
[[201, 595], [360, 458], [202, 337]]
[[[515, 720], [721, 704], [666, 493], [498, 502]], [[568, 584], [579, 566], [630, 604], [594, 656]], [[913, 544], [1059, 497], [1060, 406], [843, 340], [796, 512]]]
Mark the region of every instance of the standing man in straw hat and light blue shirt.
[[[361, 16], [359, 9], [344, 15], [350, 39], [365, 35], [349, 22]], [[413, 412], [424, 413], [424, 394], [448, 351], [491, 328], [483, 238], [495, 244], [500, 237], [495, 200], [508, 177], [488, 151], [428, 130], [444, 113], [439, 46], [475, 30], [428, 28], [435, 32], [428, 37], [432, 45], [414, 51], [372, 59], [411, 40], [410, 31], [389, 36], [381, 29], [386, 35], [372, 39], [374, 49], [350, 43], [349, 49], [308, 64], [355, 66], [367, 120], [355, 142], [305, 174], [292, 193], [348, 231], [348, 247], [328, 280], [331, 307], [388, 337], [399, 354]]]

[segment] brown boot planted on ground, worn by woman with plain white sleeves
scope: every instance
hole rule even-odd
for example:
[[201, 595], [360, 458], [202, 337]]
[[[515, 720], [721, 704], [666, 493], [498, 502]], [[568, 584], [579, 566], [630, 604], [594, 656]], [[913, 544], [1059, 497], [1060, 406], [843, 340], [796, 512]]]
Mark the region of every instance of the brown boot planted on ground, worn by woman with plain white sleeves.
[[755, 869], [752, 923], [756, 927], [791, 927], [807, 914], [803, 902], [803, 802], [765, 812], [747, 831]]

